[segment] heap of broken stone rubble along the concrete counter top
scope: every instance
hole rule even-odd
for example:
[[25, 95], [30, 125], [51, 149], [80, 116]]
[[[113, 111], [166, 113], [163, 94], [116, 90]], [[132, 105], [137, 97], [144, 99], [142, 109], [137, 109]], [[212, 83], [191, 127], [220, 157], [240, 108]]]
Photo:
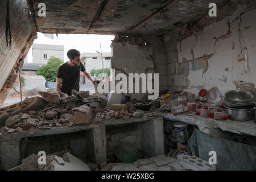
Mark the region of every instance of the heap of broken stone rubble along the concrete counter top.
[[[47, 102], [47, 107], [60, 104], [61, 99], [67, 98], [67, 94], [61, 92], [39, 92], [43, 100]], [[80, 97], [89, 96], [89, 92], [76, 92]], [[91, 97], [91, 96], [90, 96]], [[96, 96], [95, 96], [96, 97]], [[26, 104], [26, 102], [22, 102]], [[3, 108], [5, 109], [5, 108]], [[104, 122], [110, 119], [129, 120], [131, 117], [158, 117], [159, 111], [136, 110], [133, 102], [127, 102], [127, 110], [114, 111], [109, 107], [89, 107], [79, 102], [60, 104], [45, 111], [27, 110], [24, 113], [9, 116], [5, 121], [5, 127], [0, 128], [1, 134], [13, 133], [14, 131], [34, 131], [46, 130], [53, 127], [71, 127], [73, 125], [88, 125], [92, 122]]]

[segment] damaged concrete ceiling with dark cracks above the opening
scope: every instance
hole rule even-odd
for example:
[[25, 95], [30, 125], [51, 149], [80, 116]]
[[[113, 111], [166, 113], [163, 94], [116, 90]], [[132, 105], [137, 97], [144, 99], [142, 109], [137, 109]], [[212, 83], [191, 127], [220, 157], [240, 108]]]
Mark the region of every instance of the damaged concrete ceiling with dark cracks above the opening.
[[[223, 0], [28, 0], [39, 32], [57, 34], [162, 35], [208, 14]], [[46, 16], [39, 16], [45, 3]]]

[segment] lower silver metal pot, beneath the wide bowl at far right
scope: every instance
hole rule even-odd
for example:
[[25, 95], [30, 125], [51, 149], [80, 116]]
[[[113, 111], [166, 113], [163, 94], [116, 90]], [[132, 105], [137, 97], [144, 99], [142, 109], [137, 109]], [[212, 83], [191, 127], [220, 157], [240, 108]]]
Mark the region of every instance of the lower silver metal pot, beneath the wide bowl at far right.
[[250, 121], [255, 118], [254, 107], [254, 103], [232, 104], [226, 106], [226, 113], [233, 121]]

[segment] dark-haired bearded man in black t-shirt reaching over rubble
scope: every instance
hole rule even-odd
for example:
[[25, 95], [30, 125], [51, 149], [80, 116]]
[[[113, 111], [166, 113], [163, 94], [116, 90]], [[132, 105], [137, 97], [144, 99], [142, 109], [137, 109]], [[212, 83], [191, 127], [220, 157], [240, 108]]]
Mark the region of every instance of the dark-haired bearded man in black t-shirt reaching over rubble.
[[93, 78], [85, 71], [84, 65], [80, 60], [80, 52], [76, 49], [70, 49], [67, 53], [69, 61], [61, 65], [57, 70], [56, 91], [67, 93], [71, 96], [73, 89], [79, 91], [80, 71], [93, 84], [99, 83], [99, 80]]

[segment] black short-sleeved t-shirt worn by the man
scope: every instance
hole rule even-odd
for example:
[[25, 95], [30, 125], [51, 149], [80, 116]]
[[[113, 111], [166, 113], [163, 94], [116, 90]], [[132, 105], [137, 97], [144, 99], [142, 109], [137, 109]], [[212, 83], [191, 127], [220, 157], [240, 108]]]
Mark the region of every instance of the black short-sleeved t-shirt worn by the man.
[[68, 62], [61, 65], [57, 70], [57, 78], [62, 78], [60, 91], [71, 96], [73, 89], [79, 91], [80, 71], [84, 72], [85, 68], [80, 65], [70, 66]]

